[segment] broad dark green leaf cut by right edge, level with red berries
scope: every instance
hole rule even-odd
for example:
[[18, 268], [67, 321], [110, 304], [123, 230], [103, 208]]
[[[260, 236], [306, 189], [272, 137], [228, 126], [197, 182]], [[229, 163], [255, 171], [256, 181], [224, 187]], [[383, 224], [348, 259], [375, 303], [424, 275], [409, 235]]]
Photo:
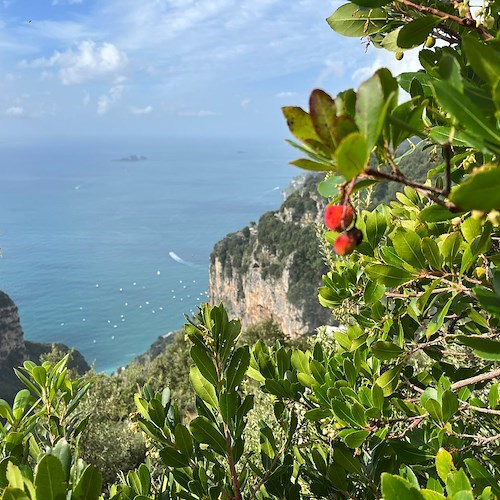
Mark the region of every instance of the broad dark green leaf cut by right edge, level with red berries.
[[463, 210], [500, 208], [500, 168], [480, 170], [451, 193], [450, 200]]

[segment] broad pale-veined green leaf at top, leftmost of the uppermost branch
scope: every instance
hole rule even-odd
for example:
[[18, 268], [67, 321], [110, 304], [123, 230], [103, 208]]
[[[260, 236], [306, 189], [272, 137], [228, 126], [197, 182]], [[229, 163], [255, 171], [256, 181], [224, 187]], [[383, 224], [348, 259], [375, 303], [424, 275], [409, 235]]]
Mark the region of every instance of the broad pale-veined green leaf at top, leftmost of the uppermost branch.
[[358, 7], [352, 3], [340, 6], [326, 21], [339, 35], [363, 37], [376, 33], [387, 20], [382, 9]]

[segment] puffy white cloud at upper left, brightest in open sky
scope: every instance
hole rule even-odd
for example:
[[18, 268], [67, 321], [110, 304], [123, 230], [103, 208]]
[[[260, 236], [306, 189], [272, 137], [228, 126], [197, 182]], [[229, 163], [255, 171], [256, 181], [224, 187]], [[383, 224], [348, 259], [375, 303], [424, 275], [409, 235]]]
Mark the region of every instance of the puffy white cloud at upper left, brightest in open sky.
[[64, 85], [75, 85], [90, 80], [116, 78], [127, 65], [127, 55], [112, 43], [80, 42], [75, 49], [55, 52], [49, 59], [39, 58], [23, 66], [59, 68]]

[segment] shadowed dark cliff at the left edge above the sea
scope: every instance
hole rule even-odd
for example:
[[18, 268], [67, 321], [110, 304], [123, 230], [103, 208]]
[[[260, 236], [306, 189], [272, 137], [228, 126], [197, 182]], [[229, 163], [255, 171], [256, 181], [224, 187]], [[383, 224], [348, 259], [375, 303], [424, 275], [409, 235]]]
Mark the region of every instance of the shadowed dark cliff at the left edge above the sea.
[[[40, 356], [50, 352], [53, 347], [62, 352], [69, 351], [64, 344], [25, 340], [16, 304], [6, 293], [0, 291], [0, 398], [12, 400], [22, 388], [14, 374], [14, 368], [28, 359], [38, 362]], [[73, 351], [69, 366], [79, 373], [90, 369], [78, 351]]]

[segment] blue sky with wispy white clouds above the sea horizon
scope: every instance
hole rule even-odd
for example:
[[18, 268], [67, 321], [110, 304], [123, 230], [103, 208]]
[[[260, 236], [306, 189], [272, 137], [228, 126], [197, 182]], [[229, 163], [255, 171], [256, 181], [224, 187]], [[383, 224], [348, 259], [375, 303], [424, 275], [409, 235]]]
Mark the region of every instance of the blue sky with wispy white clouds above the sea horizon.
[[283, 105], [415, 69], [327, 0], [0, 0], [0, 136], [286, 136]]

